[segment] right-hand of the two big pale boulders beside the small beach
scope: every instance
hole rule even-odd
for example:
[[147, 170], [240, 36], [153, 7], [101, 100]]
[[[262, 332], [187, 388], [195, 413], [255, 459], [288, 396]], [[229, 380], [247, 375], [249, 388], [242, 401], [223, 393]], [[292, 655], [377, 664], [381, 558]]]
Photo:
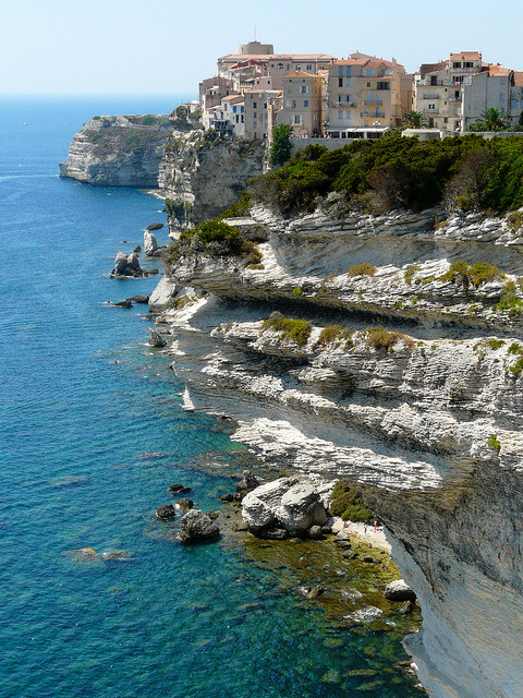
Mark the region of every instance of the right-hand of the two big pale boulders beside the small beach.
[[290, 488], [281, 497], [276, 510], [278, 521], [291, 533], [302, 534], [312, 526], [324, 526], [327, 513], [319, 501], [319, 493], [309, 483]]

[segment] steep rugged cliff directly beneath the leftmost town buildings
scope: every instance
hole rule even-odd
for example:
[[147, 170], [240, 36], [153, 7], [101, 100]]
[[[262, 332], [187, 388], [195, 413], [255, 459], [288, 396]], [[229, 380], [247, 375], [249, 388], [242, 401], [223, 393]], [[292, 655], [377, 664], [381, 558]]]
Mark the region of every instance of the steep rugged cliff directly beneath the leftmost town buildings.
[[195, 129], [174, 132], [160, 164], [170, 231], [215, 218], [238, 201], [253, 177], [262, 174], [262, 141], [222, 141]]

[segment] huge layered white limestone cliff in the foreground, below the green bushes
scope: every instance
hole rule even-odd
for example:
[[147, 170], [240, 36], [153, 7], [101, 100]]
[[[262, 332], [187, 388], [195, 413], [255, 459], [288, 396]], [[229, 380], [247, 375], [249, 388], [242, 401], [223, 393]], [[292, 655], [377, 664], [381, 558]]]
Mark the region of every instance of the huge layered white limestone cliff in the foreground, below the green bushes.
[[442, 215], [255, 207], [260, 264], [178, 260], [163, 284], [208, 294], [171, 298], [157, 322], [197, 409], [238, 419], [234, 438], [260, 458], [351, 478], [378, 513], [422, 605], [409, 649], [429, 695], [516, 698], [520, 230]]

